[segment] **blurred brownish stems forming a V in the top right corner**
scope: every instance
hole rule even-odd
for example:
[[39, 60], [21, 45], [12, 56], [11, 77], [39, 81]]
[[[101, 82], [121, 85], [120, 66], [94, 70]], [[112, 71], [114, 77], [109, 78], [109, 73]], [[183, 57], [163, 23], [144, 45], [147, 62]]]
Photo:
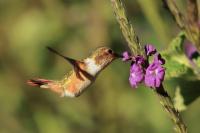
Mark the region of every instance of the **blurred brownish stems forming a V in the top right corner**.
[[178, 9], [174, 0], [163, 0], [163, 3], [174, 17], [177, 25], [186, 33], [186, 37], [200, 51], [200, 28], [198, 26], [197, 11], [198, 5], [196, 0], [188, 0], [188, 17], [184, 16]]

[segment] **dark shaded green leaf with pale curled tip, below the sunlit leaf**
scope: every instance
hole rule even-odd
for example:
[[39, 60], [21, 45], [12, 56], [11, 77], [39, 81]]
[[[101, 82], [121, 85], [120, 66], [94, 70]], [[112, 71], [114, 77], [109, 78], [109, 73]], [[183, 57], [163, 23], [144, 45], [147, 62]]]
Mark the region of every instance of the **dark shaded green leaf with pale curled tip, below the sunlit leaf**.
[[179, 111], [186, 109], [200, 96], [200, 82], [192, 70], [187, 71], [180, 77], [171, 78], [169, 83], [172, 88], [176, 88], [174, 105]]

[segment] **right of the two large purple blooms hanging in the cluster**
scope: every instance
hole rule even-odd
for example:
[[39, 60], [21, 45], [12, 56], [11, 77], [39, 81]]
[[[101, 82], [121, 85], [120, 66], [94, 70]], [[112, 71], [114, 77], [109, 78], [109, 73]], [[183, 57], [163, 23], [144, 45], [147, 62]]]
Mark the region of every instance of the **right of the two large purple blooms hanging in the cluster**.
[[145, 84], [148, 87], [160, 87], [165, 76], [165, 68], [158, 61], [153, 62], [146, 69]]

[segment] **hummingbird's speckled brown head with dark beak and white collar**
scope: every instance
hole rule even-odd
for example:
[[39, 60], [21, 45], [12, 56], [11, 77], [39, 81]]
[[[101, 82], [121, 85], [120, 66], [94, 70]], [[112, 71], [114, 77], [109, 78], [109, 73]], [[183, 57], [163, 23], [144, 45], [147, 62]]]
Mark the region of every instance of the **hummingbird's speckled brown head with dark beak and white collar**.
[[122, 58], [122, 56], [108, 47], [99, 47], [85, 61], [90, 74], [95, 75], [116, 58]]

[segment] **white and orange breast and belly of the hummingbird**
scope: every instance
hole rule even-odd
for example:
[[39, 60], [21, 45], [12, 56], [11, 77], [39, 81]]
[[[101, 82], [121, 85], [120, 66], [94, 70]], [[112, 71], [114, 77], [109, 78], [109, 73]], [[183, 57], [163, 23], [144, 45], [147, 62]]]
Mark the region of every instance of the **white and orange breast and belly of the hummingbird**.
[[97, 74], [102, 70], [101, 65], [96, 64], [92, 58], [86, 58], [83, 60], [84, 63], [79, 64], [81, 70], [77, 72], [73, 70], [69, 76], [64, 79], [64, 96], [77, 97], [79, 96], [88, 86], [90, 86]]

